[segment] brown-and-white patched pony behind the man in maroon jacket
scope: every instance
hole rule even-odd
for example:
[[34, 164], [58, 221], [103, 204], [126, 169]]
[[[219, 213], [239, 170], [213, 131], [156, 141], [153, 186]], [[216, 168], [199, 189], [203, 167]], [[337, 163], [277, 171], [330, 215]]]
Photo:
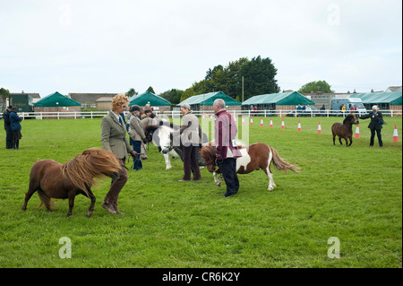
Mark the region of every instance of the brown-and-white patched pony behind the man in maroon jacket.
[[[276, 187], [273, 180], [273, 173], [270, 169], [271, 163], [273, 163], [274, 169], [282, 170], [286, 173], [288, 169], [296, 173], [298, 173], [298, 169], [300, 169], [288, 163], [287, 160], [280, 158], [277, 150], [265, 143], [254, 143], [246, 148], [241, 147], [240, 151], [242, 157], [236, 159], [236, 173], [249, 174], [254, 170], [263, 169], [269, 178], [269, 191]], [[201, 148], [201, 157], [206, 161], [207, 169], [213, 173], [214, 181], [217, 186], [221, 186], [221, 182], [217, 178], [217, 174], [221, 173], [221, 169], [219, 169], [217, 163], [216, 148], [211, 146], [211, 143], [203, 146]]]

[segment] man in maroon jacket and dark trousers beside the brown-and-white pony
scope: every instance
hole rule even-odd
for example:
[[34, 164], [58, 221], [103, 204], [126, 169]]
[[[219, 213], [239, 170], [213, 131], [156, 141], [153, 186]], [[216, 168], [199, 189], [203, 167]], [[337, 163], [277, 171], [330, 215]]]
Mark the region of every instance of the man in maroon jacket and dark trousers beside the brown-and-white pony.
[[213, 103], [214, 112], [216, 114], [215, 124], [215, 144], [217, 160], [221, 162], [219, 166], [222, 176], [226, 181], [227, 193], [235, 195], [239, 189], [238, 176], [236, 175], [236, 158], [242, 157], [241, 152], [236, 146], [236, 134], [238, 128], [233, 117], [225, 109], [224, 100], [215, 100]]

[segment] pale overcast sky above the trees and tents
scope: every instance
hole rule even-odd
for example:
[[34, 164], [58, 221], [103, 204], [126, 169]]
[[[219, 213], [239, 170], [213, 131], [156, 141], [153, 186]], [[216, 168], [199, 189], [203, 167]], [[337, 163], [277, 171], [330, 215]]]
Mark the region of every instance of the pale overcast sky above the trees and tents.
[[159, 94], [259, 55], [281, 90], [401, 85], [402, 1], [0, 0], [0, 87], [11, 92]]

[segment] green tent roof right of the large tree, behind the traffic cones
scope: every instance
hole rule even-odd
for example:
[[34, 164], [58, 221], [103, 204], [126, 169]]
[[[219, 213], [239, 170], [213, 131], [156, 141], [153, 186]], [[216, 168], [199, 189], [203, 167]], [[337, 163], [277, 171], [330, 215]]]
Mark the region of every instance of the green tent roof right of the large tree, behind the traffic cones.
[[312, 100], [308, 100], [304, 95], [297, 91], [280, 92], [271, 94], [256, 95], [248, 100], [244, 100], [242, 105], [257, 105], [257, 104], [278, 104], [278, 105], [313, 105]]

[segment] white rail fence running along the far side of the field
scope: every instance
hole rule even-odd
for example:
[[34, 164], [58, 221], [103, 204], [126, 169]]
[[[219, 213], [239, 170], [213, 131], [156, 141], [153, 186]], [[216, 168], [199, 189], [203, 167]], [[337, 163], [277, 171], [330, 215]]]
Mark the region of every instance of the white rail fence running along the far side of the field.
[[[401, 117], [402, 110], [380, 110], [385, 117]], [[340, 112], [339, 110], [311, 110], [311, 111], [297, 111], [297, 110], [234, 110], [229, 111], [235, 117], [346, 117], [349, 112]], [[158, 117], [180, 117], [179, 111], [165, 111], [162, 114], [159, 111], [155, 112]], [[357, 115], [363, 115], [358, 113]], [[126, 112], [127, 114], [127, 112]], [[210, 117], [214, 113], [212, 111], [193, 111], [197, 117]], [[71, 111], [71, 112], [30, 112], [21, 113], [20, 116], [24, 118], [53, 118], [53, 119], [81, 119], [81, 118], [102, 118], [107, 115], [107, 111]]]

